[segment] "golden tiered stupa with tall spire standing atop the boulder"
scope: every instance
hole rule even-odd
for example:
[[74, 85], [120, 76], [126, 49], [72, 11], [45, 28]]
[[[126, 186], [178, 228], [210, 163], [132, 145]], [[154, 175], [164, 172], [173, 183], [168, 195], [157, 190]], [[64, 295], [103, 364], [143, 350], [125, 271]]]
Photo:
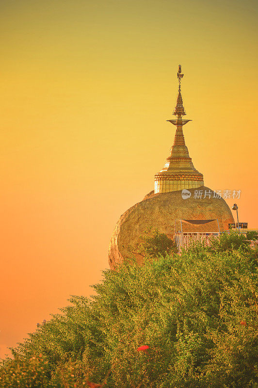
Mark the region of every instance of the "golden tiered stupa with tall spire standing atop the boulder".
[[170, 149], [167, 161], [162, 170], [155, 175], [154, 193], [166, 193], [182, 189], [194, 189], [204, 185], [203, 175], [199, 173], [189, 156], [185, 145], [183, 126], [192, 120], [183, 120], [185, 110], [181, 96], [181, 65], [179, 65], [177, 78], [179, 81], [177, 103], [173, 114], [176, 120], [167, 120], [174, 124], [176, 129], [174, 144]]

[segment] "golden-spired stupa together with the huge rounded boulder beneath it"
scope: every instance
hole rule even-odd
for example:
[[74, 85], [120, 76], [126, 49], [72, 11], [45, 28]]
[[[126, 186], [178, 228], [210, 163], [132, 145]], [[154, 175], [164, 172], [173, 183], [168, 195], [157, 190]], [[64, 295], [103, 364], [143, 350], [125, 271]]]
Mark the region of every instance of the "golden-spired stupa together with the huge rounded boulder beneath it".
[[[164, 168], [155, 175], [155, 190], [145, 195], [144, 199], [126, 210], [114, 227], [109, 244], [109, 265], [113, 270], [125, 258], [129, 257], [128, 247], [135, 247], [141, 242], [141, 235], [149, 227], [157, 228], [174, 239], [176, 220], [216, 220], [220, 231], [228, 229], [234, 218], [224, 198], [204, 186], [203, 175], [199, 173], [189, 157], [185, 145], [183, 125], [191, 120], [183, 120], [185, 110], [181, 96], [181, 66], [177, 78], [179, 89], [177, 103], [173, 114], [176, 120], [167, 120], [177, 127], [175, 141], [170, 149]], [[198, 188], [198, 190], [196, 190]], [[187, 196], [183, 196], [187, 192]], [[195, 195], [197, 192], [210, 195]], [[210, 226], [197, 224], [194, 232], [213, 232]], [[137, 263], [142, 265], [144, 258], [136, 255]]]

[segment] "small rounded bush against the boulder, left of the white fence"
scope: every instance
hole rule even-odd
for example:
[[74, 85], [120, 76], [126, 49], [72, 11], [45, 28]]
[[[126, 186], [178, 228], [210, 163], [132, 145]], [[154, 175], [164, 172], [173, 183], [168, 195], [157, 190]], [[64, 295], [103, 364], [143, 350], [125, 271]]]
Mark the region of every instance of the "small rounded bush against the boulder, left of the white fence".
[[129, 246], [128, 252], [149, 258], [160, 258], [177, 253], [175, 242], [169, 239], [165, 233], [160, 233], [157, 228], [149, 227], [140, 236], [140, 240], [141, 242], [136, 246]]

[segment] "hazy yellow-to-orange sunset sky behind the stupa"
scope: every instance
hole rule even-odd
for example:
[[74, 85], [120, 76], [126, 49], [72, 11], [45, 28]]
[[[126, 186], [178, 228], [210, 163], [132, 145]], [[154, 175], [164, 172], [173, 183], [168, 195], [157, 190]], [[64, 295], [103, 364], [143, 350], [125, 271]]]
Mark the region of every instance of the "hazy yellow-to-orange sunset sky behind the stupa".
[[1, 0], [0, 356], [94, 293], [173, 143], [179, 63], [194, 167], [258, 228], [257, 18], [256, 0]]

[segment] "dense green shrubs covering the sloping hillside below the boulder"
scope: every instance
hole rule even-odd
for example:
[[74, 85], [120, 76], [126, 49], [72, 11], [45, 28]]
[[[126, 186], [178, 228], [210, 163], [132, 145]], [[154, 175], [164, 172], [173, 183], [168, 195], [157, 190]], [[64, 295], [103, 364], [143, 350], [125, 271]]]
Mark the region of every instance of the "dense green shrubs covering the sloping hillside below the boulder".
[[257, 252], [245, 242], [229, 235], [104, 271], [92, 300], [72, 297], [13, 350], [0, 388], [81, 388], [87, 378], [107, 388], [258, 388]]

